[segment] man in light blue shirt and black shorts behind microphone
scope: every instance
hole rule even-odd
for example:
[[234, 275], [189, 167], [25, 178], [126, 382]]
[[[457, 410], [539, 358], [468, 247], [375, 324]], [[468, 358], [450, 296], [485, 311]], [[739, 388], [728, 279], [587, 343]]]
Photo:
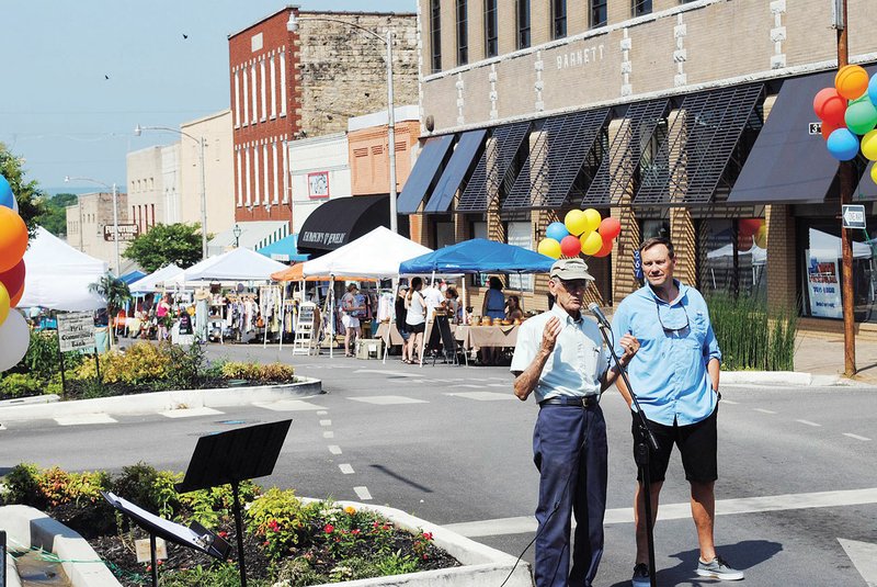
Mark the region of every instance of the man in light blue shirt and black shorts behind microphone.
[[[715, 482], [718, 478], [716, 417], [719, 400], [719, 351], [709, 312], [701, 293], [673, 279], [675, 257], [667, 238], [650, 238], [639, 248], [648, 282], [627, 296], [615, 312], [612, 329], [616, 350], [625, 350], [623, 335], [633, 334], [641, 348], [630, 362], [628, 376], [639, 406], [658, 440], [649, 454], [652, 522], [673, 444], [679, 447], [685, 478], [691, 484], [692, 517], [701, 544], [695, 572], [726, 580], [743, 578], [716, 554], [713, 528]], [[630, 391], [622, 380], [618, 390], [634, 409]], [[634, 444], [640, 434], [634, 419]], [[634, 587], [649, 585], [645, 492], [638, 477], [636, 492], [637, 558]]]

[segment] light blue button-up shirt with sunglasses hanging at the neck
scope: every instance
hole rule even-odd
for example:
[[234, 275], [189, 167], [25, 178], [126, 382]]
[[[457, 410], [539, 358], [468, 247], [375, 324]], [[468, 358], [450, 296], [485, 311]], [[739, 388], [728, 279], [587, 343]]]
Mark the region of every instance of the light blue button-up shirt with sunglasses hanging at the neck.
[[[718, 398], [707, 364], [713, 359], [721, 361], [721, 351], [704, 297], [694, 287], [675, 283], [679, 296], [669, 304], [648, 283], [628, 295], [613, 316], [612, 331], [619, 357], [623, 335], [633, 334], [641, 345], [628, 365], [628, 376], [646, 417], [667, 426], [674, 421], [686, 426], [716, 408]], [[669, 330], [675, 328], [680, 329]]]

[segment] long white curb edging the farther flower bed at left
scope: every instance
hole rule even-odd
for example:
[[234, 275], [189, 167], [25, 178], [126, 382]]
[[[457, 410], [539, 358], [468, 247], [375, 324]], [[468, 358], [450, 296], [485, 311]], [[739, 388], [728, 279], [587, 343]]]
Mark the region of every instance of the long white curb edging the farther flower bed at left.
[[298, 376], [296, 383], [283, 385], [253, 385], [248, 387], [219, 387], [214, 390], [180, 390], [152, 392], [94, 399], [76, 399], [0, 407], [3, 421], [52, 419], [59, 416], [83, 414], [149, 414], [173, 409], [215, 408], [242, 406], [254, 402], [277, 402], [289, 396], [320, 395], [322, 381]]

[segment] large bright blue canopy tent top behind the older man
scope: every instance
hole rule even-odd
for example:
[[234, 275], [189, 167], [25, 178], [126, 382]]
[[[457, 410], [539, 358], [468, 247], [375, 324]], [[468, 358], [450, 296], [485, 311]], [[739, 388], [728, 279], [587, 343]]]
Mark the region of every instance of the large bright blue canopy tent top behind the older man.
[[474, 238], [409, 259], [399, 273], [547, 273], [554, 262], [523, 247]]

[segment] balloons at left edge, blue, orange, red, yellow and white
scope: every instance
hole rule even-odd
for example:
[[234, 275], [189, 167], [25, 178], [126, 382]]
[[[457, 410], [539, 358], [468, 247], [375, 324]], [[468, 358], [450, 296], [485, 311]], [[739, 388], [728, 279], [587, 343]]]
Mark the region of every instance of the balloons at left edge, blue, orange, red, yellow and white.
[[15, 366], [27, 352], [31, 331], [19, 312], [24, 295], [24, 251], [27, 226], [19, 216], [12, 187], [0, 176], [0, 372]]

